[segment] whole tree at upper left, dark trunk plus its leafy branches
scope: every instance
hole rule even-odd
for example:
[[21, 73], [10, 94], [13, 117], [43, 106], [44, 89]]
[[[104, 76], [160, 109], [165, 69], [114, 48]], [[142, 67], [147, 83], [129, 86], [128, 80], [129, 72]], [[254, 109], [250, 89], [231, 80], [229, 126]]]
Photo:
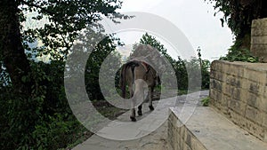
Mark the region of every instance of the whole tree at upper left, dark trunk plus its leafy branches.
[[[117, 0], [3, 0], [0, 5], [1, 61], [15, 89], [21, 93], [30, 93], [32, 84], [21, 80], [31, 71], [23, 45], [25, 41], [30, 43], [38, 38], [45, 48], [36, 51], [51, 53], [53, 59], [64, 59], [81, 29], [101, 20], [101, 15], [122, 17], [116, 12], [121, 7]], [[48, 22], [43, 28], [23, 30], [25, 12], [37, 12], [32, 20], [45, 18]]]

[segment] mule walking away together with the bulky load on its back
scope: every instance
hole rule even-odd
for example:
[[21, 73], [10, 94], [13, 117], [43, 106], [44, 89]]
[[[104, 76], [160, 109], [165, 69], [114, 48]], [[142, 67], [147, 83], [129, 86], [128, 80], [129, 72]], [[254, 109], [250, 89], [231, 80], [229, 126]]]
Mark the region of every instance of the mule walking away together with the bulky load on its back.
[[[149, 88], [149, 107], [151, 111], [154, 110], [154, 107], [152, 106], [152, 95], [158, 81], [157, 71], [152, 67], [158, 63], [158, 54], [155, 54], [154, 51], [157, 50], [153, 50], [153, 48], [149, 45], [138, 45], [135, 48], [134, 53], [131, 55], [131, 59], [121, 68], [120, 88], [124, 99], [126, 98], [126, 87], [128, 87], [130, 92], [130, 118], [133, 122], [136, 122], [136, 105], [139, 105], [137, 113], [142, 115], [142, 104], [146, 100], [144, 98], [144, 90], [146, 86]], [[137, 101], [141, 101], [141, 103], [136, 104]]]

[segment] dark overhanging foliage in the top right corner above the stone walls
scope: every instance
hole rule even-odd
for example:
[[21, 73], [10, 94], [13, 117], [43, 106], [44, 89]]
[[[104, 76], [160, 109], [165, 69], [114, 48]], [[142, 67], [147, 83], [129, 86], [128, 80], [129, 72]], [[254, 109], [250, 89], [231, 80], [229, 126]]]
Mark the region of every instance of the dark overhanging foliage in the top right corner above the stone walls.
[[[222, 25], [227, 23], [231, 31], [242, 39], [250, 35], [252, 20], [267, 17], [265, 0], [205, 0], [214, 4], [214, 9], [223, 12]], [[215, 13], [216, 14], [216, 13]], [[214, 15], [215, 15], [214, 14]]]

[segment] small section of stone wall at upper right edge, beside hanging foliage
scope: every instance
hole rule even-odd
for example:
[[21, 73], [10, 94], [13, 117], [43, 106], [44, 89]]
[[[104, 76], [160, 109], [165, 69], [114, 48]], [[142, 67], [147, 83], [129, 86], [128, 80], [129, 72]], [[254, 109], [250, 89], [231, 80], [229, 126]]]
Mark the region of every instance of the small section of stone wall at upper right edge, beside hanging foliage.
[[252, 21], [251, 51], [261, 61], [267, 62], [267, 18]]

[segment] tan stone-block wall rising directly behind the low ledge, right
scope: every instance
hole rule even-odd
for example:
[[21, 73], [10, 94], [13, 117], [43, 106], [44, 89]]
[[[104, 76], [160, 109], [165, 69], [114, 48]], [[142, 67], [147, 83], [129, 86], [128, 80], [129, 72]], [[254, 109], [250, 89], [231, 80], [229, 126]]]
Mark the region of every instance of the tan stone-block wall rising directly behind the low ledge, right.
[[267, 142], [267, 64], [215, 60], [210, 82], [211, 106]]

